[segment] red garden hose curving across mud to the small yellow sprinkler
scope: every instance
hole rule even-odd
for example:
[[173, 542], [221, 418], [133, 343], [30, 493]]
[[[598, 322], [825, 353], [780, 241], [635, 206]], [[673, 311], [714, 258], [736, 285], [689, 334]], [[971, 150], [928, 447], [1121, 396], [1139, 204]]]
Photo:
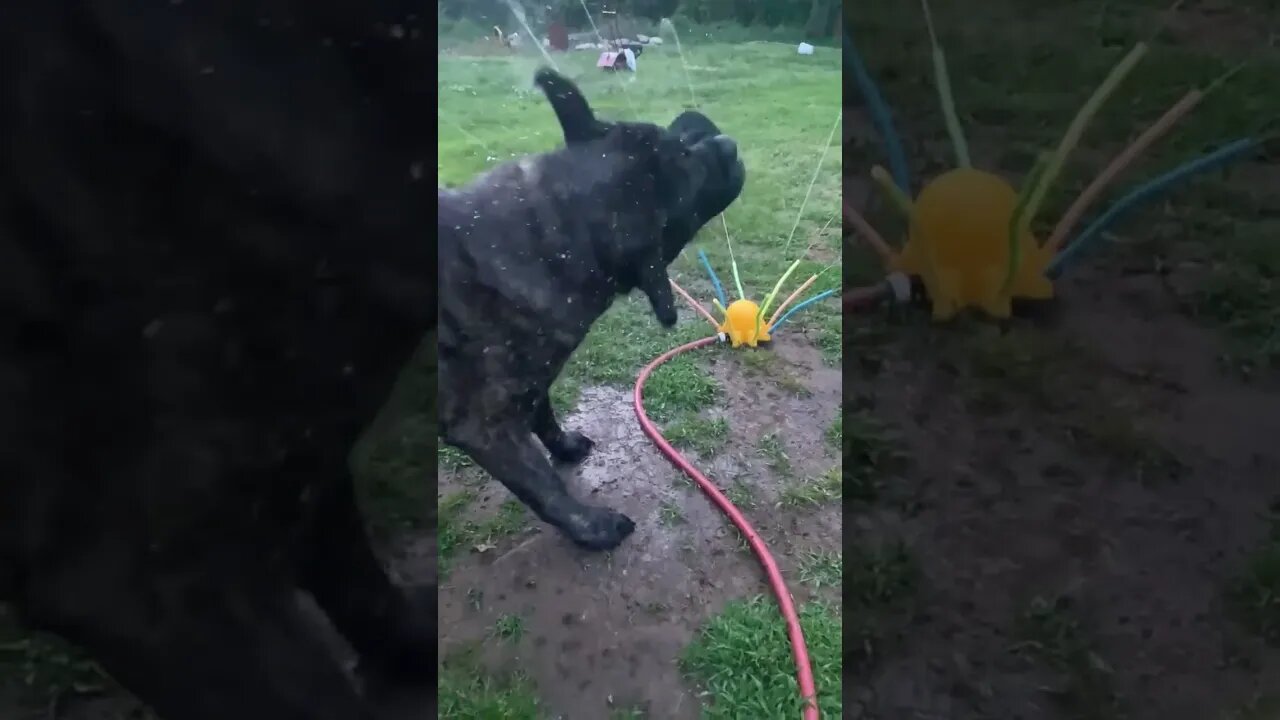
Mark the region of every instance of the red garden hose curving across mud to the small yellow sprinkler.
[[712, 498], [721, 511], [728, 515], [728, 519], [737, 525], [737, 529], [742, 532], [742, 537], [750, 543], [751, 550], [755, 556], [760, 560], [760, 565], [764, 566], [764, 574], [769, 577], [769, 587], [773, 589], [773, 596], [778, 598], [778, 607], [782, 610], [782, 618], [787, 623], [787, 635], [791, 638], [791, 656], [796, 662], [796, 680], [800, 684], [800, 694], [805, 698], [804, 706], [804, 720], [818, 720], [818, 692], [813, 684], [813, 669], [809, 666], [809, 650], [804, 643], [804, 633], [800, 630], [800, 618], [796, 615], [795, 603], [791, 602], [791, 592], [787, 591], [787, 584], [782, 579], [782, 573], [778, 571], [778, 564], [773, 560], [773, 555], [769, 553], [769, 548], [765, 547], [764, 541], [751, 527], [742, 512], [733, 506], [732, 502], [724, 497], [705, 475], [698, 471], [698, 468], [677, 451], [675, 447], [667, 442], [667, 438], [662, 437], [658, 428], [649, 420], [649, 415], [644, 411], [644, 398], [641, 393], [644, 392], [644, 383], [649, 379], [649, 374], [653, 373], [659, 365], [671, 360], [681, 352], [686, 352], [698, 347], [703, 347], [717, 342], [719, 338], [716, 336], [707, 337], [703, 340], [695, 340], [694, 342], [681, 345], [680, 347], [668, 350], [663, 352], [653, 363], [645, 365], [640, 370], [640, 375], [636, 378], [636, 389], [632, 393], [632, 402], [635, 405], [636, 419], [640, 420], [640, 427], [644, 429], [644, 434], [649, 436], [649, 439], [658, 446], [658, 450], [671, 460], [672, 465], [680, 469], [684, 474], [689, 475], [698, 487], [703, 489], [708, 497]]

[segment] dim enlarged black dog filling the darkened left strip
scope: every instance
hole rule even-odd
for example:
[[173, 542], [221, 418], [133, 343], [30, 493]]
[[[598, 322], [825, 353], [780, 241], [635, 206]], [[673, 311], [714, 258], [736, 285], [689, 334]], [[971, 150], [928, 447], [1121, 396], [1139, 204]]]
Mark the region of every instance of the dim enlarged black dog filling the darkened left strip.
[[0, 4], [0, 601], [165, 720], [372, 717], [298, 591], [434, 688], [347, 457], [438, 316], [404, 8]]

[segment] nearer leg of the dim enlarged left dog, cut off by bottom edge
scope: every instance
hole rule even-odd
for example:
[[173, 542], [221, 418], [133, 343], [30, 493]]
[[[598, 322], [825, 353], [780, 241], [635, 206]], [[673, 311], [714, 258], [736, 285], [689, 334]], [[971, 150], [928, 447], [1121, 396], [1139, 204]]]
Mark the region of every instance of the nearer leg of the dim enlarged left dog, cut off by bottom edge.
[[91, 601], [60, 597], [70, 585], [58, 583], [35, 621], [82, 646], [166, 720], [374, 720], [287, 579], [242, 560], [236, 575], [193, 565], [81, 584]]

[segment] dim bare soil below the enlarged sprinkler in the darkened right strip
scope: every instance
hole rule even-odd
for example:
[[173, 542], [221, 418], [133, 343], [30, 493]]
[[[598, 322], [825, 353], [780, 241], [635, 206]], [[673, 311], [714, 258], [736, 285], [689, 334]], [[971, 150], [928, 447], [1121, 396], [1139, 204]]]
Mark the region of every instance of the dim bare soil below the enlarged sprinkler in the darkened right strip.
[[1280, 495], [1280, 387], [1225, 375], [1156, 275], [1059, 290], [1004, 332], [846, 318], [846, 400], [911, 457], [846, 539], [922, 568], [902, 642], [847, 679], [855, 717], [1219, 720], [1280, 689], [1224, 600]]

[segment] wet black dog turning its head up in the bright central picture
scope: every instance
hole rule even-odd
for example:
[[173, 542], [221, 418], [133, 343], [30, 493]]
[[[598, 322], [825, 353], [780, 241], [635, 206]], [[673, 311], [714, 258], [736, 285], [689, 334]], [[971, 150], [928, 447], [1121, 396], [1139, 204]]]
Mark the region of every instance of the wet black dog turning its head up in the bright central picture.
[[564, 147], [439, 192], [440, 433], [573, 542], [608, 550], [635, 524], [566, 492], [534, 436], [566, 462], [593, 443], [559, 427], [548, 389], [620, 293], [641, 290], [675, 324], [667, 265], [745, 169], [722, 135], [603, 122], [570, 81], [535, 82]]

